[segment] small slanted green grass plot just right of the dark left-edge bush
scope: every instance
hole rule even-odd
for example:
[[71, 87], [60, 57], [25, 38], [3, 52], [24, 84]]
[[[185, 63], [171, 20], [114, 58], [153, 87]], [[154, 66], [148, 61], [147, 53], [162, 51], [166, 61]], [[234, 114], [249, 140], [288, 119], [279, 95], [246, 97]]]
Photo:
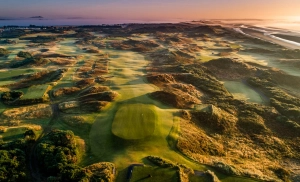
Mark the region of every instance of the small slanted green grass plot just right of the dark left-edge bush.
[[43, 98], [49, 89], [49, 85], [34, 85], [28, 89], [22, 89], [21, 91], [23, 91], [24, 95], [21, 99], [25, 100]]

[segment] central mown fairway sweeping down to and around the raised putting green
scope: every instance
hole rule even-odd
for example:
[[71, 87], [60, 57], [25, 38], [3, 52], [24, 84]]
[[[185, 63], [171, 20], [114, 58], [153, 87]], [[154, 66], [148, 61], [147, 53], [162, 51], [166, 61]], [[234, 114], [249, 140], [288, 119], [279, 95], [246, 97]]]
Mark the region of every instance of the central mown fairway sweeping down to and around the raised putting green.
[[[112, 103], [111, 107], [105, 112], [98, 114], [90, 131], [90, 158], [85, 159], [83, 163], [90, 164], [97, 161], [111, 161], [122, 171], [126, 169], [129, 164], [142, 163], [143, 158], [146, 156], [157, 155], [171, 161], [186, 164], [194, 169], [204, 169], [204, 166], [195, 164], [178, 152], [170, 149], [166, 138], [169, 136], [173, 127], [174, 114], [178, 110], [167, 107], [160, 102], [152, 100], [148, 96], [149, 93], [157, 91], [157, 87], [149, 84], [145, 79], [145, 68], [149, 62], [145, 60], [144, 56], [132, 51], [111, 49], [104, 49], [102, 51], [108, 53], [112, 58], [109, 62], [109, 74], [112, 77], [107, 82], [107, 86], [117, 91], [120, 94], [120, 98], [116, 103]], [[127, 106], [130, 108], [126, 108]], [[137, 110], [136, 108], [138, 108], [139, 111], [135, 111]], [[132, 112], [132, 114], [122, 113], [126, 110], [131, 110], [130, 112]], [[122, 137], [116, 137], [114, 135], [114, 130], [116, 130], [114, 127], [117, 126], [117, 124], [115, 124], [116, 120], [120, 123], [123, 120], [116, 119], [117, 117], [125, 116], [126, 118], [130, 118], [141, 116], [141, 114], [138, 113], [142, 112], [147, 112], [147, 117], [153, 119], [152, 127], [155, 127], [155, 129], [151, 136], [140, 140], [124, 140]], [[115, 117], [115, 114], [120, 116]], [[138, 117], [133, 121], [137, 120]], [[126, 120], [126, 122], [128, 122], [128, 120]], [[133, 122], [131, 121], [127, 126], [132, 124]], [[150, 126], [149, 123], [147, 123], [147, 126]], [[135, 134], [139, 135], [141, 131], [138, 130], [150, 133], [150, 131], [152, 132], [153, 130], [150, 129], [152, 127], [136, 127], [133, 129], [136, 130]], [[121, 129], [122, 128], [119, 128], [119, 130]], [[122, 133], [124, 131], [120, 132]], [[127, 131], [125, 133], [127, 133]]]

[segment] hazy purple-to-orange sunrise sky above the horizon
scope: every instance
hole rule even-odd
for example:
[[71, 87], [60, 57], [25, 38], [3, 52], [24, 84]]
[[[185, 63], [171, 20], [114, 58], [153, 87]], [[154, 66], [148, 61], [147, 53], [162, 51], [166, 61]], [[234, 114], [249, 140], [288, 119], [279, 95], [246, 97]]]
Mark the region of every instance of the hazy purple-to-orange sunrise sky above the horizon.
[[0, 0], [0, 4], [0, 18], [300, 20], [300, 0]]

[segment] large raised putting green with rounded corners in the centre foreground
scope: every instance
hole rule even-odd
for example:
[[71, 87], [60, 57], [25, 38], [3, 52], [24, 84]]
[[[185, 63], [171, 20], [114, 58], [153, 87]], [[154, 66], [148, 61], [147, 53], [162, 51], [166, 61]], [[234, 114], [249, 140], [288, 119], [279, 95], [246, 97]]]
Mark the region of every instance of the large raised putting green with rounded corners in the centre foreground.
[[153, 134], [157, 119], [153, 105], [122, 105], [112, 123], [112, 133], [126, 140], [143, 139]]

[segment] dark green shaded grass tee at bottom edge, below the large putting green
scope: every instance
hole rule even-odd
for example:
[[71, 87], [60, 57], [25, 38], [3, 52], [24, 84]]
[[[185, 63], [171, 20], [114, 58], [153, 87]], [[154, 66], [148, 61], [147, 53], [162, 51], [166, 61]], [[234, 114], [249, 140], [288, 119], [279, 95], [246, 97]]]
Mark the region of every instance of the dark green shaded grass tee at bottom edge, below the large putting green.
[[[148, 177], [151, 175], [152, 177]], [[159, 167], [135, 166], [133, 168], [130, 182], [157, 182], [157, 181], [179, 181], [179, 174], [175, 169]]]

